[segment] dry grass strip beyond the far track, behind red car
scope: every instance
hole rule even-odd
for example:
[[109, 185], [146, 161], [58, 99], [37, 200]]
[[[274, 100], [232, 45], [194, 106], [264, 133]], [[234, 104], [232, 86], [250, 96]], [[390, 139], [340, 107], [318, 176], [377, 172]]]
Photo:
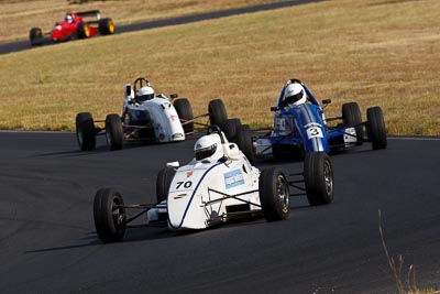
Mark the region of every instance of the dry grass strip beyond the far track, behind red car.
[[0, 0], [0, 42], [28, 39], [33, 26], [40, 26], [45, 32], [51, 31], [54, 23], [62, 21], [67, 11], [99, 9], [102, 17], [113, 19], [118, 29], [118, 24], [278, 1], [280, 0], [107, 0], [69, 4], [65, 0]]

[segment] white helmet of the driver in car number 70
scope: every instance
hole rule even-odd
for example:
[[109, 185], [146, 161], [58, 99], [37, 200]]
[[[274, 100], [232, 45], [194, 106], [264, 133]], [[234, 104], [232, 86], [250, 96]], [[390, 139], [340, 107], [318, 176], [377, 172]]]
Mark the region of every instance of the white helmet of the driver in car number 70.
[[202, 163], [218, 162], [224, 155], [220, 135], [211, 133], [201, 137], [194, 146], [194, 155]]

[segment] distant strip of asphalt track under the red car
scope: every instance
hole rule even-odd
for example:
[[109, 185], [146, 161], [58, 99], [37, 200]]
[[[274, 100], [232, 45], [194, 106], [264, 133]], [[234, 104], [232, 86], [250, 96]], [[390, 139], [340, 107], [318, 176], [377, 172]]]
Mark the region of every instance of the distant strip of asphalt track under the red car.
[[[213, 20], [213, 19], [232, 17], [232, 15], [238, 15], [238, 14], [243, 14], [243, 13], [253, 13], [253, 12], [258, 12], [258, 11], [279, 9], [279, 8], [306, 4], [306, 3], [318, 2], [318, 1], [320, 1], [320, 0], [287, 0], [287, 1], [280, 1], [280, 2], [274, 2], [274, 3], [228, 9], [228, 10], [206, 12], [206, 13], [200, 13], [200, 14], [195, 14], [195, 15], [177, 17], [177, 18], [156, 20], [156, 21], [150, 21], [150, 22], [127, 24], [127, 25], [118, 25], [118, 20], [114, 20], [116, 25], [117, 25], [116, 34], [155, 29], [155, 28], [163, 28], [163, 26], [167, 26], [167, 25], [178, 25], [178, 24], [191, 23], [191, 22], [197, 22], [197, 21]], [[48, 44], [50, 41], [47, 40], [47, 42], [45, 42], [45, 43]], [[31, 43], [29, 42], [29, 40], [0, 43], [0, 55], [12, 53], [12, 52], [30, 50], [30, 48], [32, 48], [32, 46], [31, 46]]]

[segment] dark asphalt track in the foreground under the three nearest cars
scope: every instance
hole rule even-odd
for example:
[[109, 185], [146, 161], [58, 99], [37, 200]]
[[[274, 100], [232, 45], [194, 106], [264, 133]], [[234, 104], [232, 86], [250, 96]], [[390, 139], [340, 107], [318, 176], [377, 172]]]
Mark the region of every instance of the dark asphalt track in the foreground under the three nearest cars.
[[[0, 293], [395, 293], [380, 235], [417, 285], [440, 285], [440, 139], [388, 141], [331, 157], [336, 198], [292, 198], [289, 219], [209, 230], [129, 230], [102, 244], [92, 200], [116, 187], [125, 203], [155, 199], [156, 173], [186, 163], [195, 139], [78, 150], [74, 133], [0, 132]], [[298, 172], [300, 162], [258, 162]]]

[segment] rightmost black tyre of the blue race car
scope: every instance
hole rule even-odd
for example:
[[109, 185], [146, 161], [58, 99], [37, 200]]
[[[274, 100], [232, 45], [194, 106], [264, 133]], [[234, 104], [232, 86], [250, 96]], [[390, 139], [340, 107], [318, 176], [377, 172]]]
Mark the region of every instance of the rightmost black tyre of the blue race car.
[[369, 126], [369, 138], [373, 143], [373, 150], [386, 149], [387, 135], [381, 107], [376, 106], [366, 109], [366, 122]]

